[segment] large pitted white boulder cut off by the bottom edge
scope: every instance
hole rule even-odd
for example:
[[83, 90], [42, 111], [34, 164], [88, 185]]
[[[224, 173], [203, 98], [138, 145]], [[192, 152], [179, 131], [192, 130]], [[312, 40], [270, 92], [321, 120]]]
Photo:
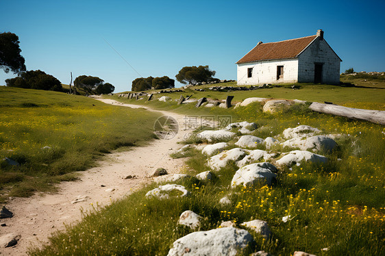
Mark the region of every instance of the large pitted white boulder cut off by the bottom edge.
[[168, 256], [223, 255], [235, 256], [245, 250], [253, 237], [244, 229], [225, 227], [209, 231], [197, 231], [179, 238], [173, 243]]

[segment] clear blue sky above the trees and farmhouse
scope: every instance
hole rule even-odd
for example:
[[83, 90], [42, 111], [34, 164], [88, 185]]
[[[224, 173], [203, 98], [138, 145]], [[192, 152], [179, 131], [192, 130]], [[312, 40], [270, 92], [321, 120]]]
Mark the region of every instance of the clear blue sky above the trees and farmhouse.
[[[219, 79], [236, 79], [235, 62], [258, 41], [316, 29], [343, 59], [341, 71], [385, 71], [384, 0], [0, 0], [0, 6], [0, 32], [18, 35], [27, 70], [40, 69], [63, 84], [72, 71], [74, 78], [97, 76], [121, 92], [136, 77], [175, 79], [183, 66], [199, 65], [209, 65]], [[0, 71], [0, 85], [9, 77]]]

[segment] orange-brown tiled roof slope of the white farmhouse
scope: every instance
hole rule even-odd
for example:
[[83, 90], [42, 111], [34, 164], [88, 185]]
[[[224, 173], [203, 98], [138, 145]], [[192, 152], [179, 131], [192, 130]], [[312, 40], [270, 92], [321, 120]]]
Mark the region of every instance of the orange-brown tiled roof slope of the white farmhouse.
[[242, 59], [238, 60], [236, 64], [256, 62], [258, 60], [277, 60], [297, 57], [297, 55], [301, 53], [314, 38], [316, 38], [316, 35], [284, 40], [281, 42], [260, 43], [243, 56]]

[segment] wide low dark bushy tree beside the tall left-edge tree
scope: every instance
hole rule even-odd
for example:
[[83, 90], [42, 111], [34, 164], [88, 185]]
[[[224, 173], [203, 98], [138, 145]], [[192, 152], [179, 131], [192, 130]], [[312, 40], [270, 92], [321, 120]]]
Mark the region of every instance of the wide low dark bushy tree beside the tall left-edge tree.
[[5, 83], [10, 87], [30, 88], [36, 90], [62, 91], [62, 83], [52, 75], [44, 71], [26, 71], [18, 77], [6, 79]]

